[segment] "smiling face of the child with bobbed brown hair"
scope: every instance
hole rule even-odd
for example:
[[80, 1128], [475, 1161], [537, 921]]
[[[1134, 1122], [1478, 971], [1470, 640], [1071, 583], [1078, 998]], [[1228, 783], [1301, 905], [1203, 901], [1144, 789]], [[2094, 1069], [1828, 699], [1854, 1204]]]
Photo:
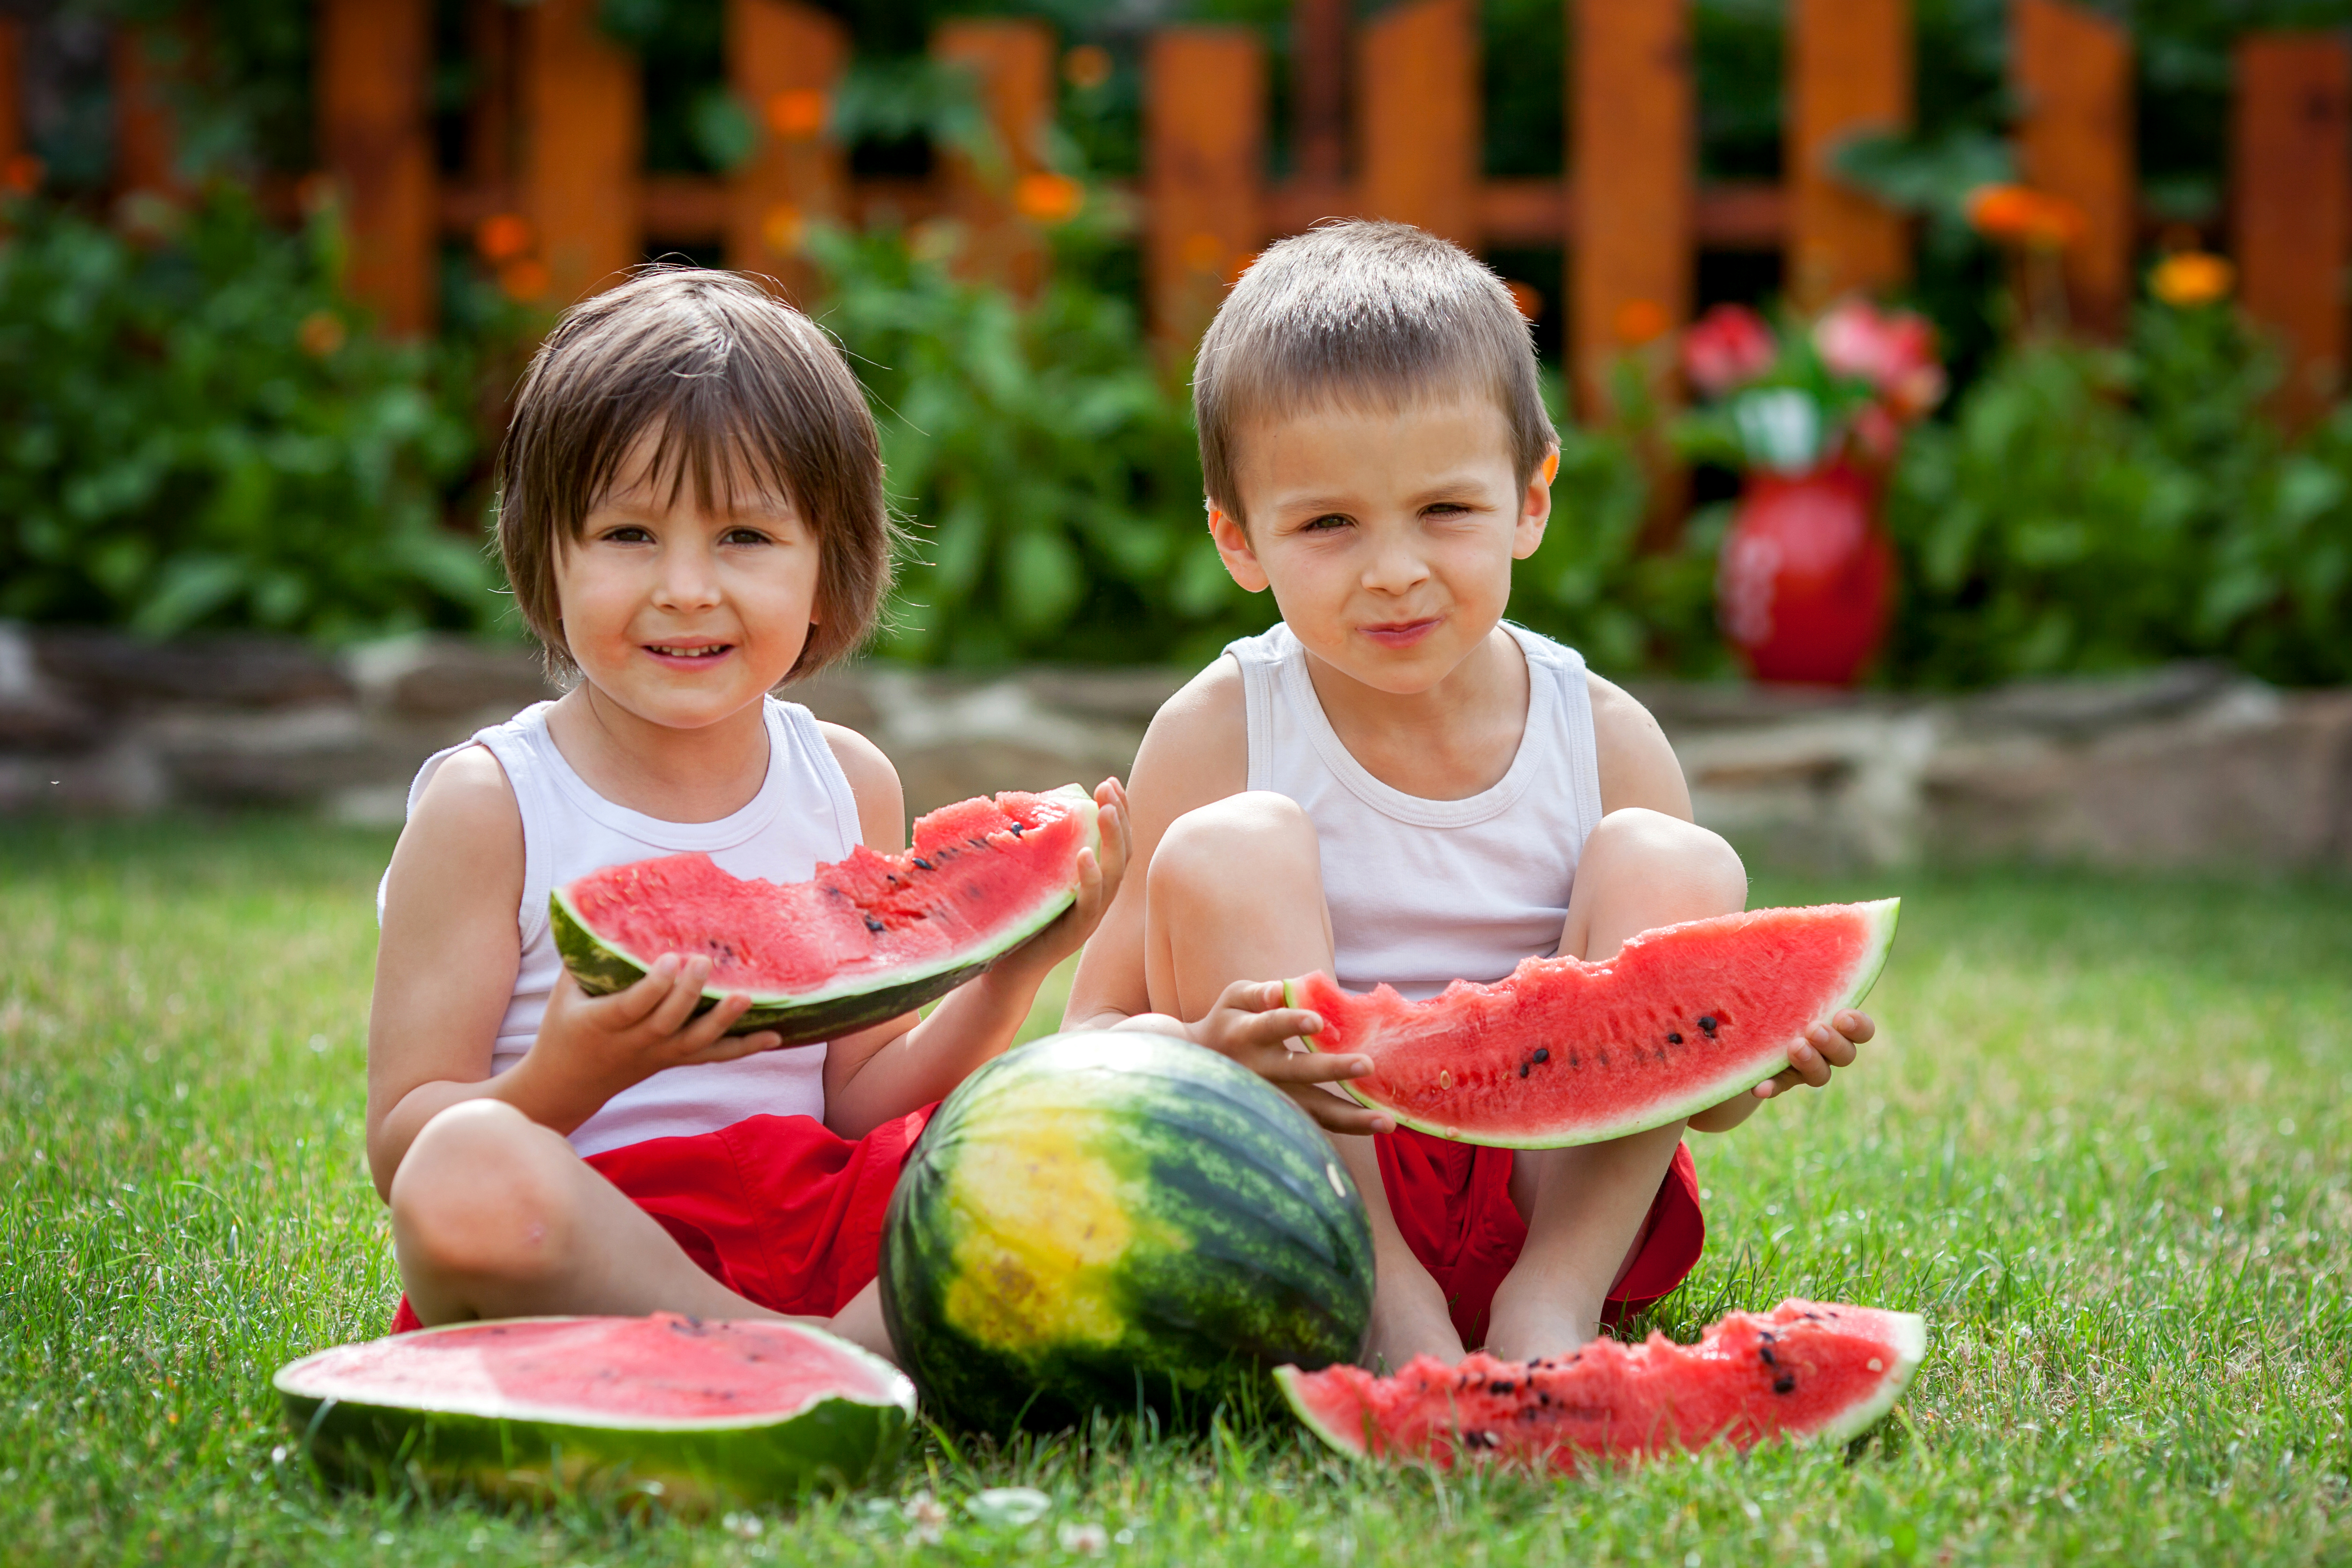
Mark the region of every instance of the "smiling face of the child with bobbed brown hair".
[[703, 512], [694, 484], [649, 484], [644, 440], [557, 552], [555, 602], [581, 675], [633, 715], [715, 724], [781, 682], [816, 618], [816, 536], [783, 496], [736, 484]]

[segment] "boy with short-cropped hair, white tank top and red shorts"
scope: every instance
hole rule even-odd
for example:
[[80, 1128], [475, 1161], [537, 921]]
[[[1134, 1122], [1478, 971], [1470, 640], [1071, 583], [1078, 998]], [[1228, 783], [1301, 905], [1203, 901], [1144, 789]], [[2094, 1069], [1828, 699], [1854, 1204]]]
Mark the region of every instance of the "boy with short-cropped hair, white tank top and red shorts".
[[[1218, 310], [1192, 390], [1216, 548], [1282, 625], [1152, 719], [1131, 778], [1143, 875], [1089, 943], [1070, 1020], [1181, 1020], [1334, 1133], [1371, 1208], [1374, 1363], [1571, 1349], [1698, 1260], [1684, 1124], [1541, 1152], [1399, 1131], [1324, 1088], [1364, 1058], [1284, 1048], [1319, 1020], [1275, 980], [1428, 997], [1740, 910], [1748, 877], [1691, 823], [1649, 712], [1503, 623], [1559, 447], [1494, 273], [1402, 223], [1284, 240]], [[1828, 1084], [1870, 1034], [1839, 1013], [1691, 1126]]]

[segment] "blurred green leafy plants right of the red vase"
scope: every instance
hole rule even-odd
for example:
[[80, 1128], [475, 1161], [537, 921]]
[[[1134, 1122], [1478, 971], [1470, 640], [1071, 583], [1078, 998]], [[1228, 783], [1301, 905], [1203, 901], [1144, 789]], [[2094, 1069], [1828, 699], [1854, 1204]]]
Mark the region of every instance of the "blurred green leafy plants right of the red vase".
[[2004, 353], [1910, 435], [1896, 684], [2164, 658], [2352, 679], [2352, 411], [2291, 442], [2277, 364], [2227, 306], [2147, 303], [2114, 350]]

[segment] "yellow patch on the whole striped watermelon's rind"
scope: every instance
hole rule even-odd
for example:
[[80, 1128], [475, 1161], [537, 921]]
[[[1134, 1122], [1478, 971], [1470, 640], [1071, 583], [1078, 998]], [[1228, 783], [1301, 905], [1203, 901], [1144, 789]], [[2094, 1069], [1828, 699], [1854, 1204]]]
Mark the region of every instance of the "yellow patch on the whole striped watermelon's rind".
[[955, 1161], [955, 1279], [950, 1324], [1014, 1354], [1056, 1345], [1115, 1345], [1127, 1333], [1120, 1262], [1136, 1241], [1183, 1246], [1167, 1227], [1136, 1227], [1129, 1182], [1096, 1154], [1091, 1117], [1042, 1112], [1018, 1131], [967, 1143]]

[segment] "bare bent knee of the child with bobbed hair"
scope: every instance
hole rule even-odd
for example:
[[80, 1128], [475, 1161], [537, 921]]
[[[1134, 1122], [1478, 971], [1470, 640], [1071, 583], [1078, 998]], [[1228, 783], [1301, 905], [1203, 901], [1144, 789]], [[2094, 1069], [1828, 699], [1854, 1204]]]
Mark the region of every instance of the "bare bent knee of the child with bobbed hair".
[[393, 1175], [402, 1262], [442, 1276], [555, 1267], [572, 1234], [572, 1147], [513, 1105], [466, 1100], [426, 1121]]

